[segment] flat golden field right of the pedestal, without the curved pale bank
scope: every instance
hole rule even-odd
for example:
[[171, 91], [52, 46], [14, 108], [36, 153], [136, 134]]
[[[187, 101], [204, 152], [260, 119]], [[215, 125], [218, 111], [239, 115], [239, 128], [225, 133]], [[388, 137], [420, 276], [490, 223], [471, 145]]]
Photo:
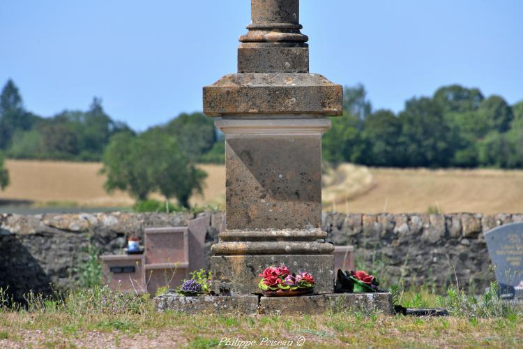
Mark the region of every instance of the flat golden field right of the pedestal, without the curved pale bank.
[[[523, 212], [521, 170], [398, 170], [371, 168], [372, 179], [324, 209], [348, 212]], [[361, 174], [360, 174], [361, 177]]]

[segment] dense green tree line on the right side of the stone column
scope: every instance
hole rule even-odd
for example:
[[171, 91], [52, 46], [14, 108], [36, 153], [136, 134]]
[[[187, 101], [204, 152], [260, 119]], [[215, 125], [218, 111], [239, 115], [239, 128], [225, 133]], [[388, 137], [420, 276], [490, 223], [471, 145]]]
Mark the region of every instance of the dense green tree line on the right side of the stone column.
[[324, 135], [324, 159], [397, 168], [523, 168], [523, 101], [441, 87], [404, 109], [372, 110], [363, 86], [345, 89], [344, 115]]

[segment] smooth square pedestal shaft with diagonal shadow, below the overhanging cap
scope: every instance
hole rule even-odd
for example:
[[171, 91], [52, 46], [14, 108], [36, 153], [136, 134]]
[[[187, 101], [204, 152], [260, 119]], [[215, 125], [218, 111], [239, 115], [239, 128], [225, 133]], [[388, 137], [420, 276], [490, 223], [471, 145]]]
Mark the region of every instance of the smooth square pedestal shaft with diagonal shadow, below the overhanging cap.
[[331, 121], [302, 117], [215, 122], [225, 134], [227, 230], [321, 227], [321, 135]]

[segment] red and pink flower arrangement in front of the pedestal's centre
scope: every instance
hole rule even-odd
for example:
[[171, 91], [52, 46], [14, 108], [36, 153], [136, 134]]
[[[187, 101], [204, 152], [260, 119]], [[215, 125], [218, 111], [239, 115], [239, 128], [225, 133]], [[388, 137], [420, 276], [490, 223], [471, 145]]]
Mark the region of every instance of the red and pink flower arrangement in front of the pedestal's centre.
[[314, 291], [314, 278], [309, 273], [291, 274], [289, 269], [268, 267], [259, 274], [262, 279], [258, 283], [265, 297], [296, 297], [309, 295]]

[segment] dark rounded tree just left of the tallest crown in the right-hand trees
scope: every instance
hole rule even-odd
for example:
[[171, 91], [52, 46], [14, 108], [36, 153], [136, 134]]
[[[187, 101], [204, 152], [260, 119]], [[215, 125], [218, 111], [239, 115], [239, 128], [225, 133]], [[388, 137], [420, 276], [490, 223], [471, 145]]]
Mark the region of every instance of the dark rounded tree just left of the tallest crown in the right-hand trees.
[[431, 98], [412, 98], [400, 113], [402, 135], [400, 165], [409, 167], [445, 167], [452, 155], [448, 144], [449, 129], [443, 110]]

